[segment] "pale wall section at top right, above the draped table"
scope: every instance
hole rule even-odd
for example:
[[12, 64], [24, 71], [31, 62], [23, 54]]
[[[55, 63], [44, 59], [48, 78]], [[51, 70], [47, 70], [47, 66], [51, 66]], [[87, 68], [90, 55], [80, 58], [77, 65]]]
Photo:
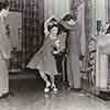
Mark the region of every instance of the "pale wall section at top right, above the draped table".
[[92, 35], [97, 35], [97, 21], [105, 25], [108, 21], [109, 0], [92, 0]]

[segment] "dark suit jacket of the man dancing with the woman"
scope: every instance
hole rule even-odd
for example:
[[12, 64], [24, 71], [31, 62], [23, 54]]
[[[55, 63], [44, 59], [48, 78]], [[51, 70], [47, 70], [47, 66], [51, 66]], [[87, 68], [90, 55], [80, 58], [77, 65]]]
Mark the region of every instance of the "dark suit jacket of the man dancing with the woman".
[[75, 25], [69, 25], [66, 21], [61, 21], [61, 24], [68, 30], [68, 36], [67, 36], [67, 47], [68, 47], [68, 54], [81, 54], [80, 48], [80, 26], [76, 22]]

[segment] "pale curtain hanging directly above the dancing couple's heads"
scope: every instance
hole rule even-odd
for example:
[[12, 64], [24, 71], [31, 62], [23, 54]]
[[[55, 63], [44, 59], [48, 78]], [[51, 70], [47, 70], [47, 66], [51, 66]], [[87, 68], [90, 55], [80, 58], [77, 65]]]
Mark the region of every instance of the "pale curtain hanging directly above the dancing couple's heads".
[[70, 0], [44, 0], [44, 18], [45, 20], [54, 14], [56, 18], [61, 19], [66, 13], [69, 12]]

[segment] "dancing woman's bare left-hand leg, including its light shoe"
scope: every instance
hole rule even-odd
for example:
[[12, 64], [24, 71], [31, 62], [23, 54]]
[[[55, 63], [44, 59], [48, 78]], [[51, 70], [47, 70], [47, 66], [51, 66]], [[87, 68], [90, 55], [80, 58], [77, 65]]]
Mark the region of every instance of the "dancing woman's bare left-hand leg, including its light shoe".
[[45, 92], [50, 91], [50, 88], [48, 88], [48, 87], [51, 86], [51, 82], [50, 82], [50, 80], [47, 79], [47, 76], [46, 76], [45, 73], [42, 72], [42, 70], [40, 70], [40, 75], [41, 75], [42, 79], [46, 82], [46, 87], [45, 87], [44, 91], [45, 91]]

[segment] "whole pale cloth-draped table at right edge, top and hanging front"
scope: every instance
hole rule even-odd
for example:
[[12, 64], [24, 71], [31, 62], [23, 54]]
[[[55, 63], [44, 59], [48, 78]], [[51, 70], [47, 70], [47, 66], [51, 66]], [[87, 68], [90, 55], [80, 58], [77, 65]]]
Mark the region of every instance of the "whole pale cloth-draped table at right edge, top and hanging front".
[[108, 54], [110, 54], [110, 35], [97, 36], [96, 87], [107, 89]]

